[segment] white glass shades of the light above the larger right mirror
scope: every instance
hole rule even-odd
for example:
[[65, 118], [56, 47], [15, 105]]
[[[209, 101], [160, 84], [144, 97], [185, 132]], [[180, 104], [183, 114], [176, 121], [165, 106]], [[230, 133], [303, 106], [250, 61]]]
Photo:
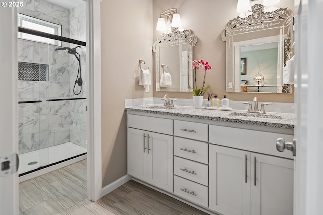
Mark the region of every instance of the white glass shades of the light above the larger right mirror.
[[[250, 0], [254, 1], [254, 0]], [[237, 3], [237, 12], [241, 13], [239, 17], [245, 18], [251, 15], [251, 5], [249, 0], [238, 0]], [[277, 10], [278, 8], [274, 7], [273, 5], [279, 3], [280, 0], [263, 0], [263, 5], [266, 7], [266, 12], [272, 12]]]

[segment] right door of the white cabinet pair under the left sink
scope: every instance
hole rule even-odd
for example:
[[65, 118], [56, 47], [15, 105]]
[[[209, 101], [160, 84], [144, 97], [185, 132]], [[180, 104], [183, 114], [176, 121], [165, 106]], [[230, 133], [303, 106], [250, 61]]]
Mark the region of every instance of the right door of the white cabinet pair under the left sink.
[[173, 137], [147, 134], [148, 183], [173, 192]]

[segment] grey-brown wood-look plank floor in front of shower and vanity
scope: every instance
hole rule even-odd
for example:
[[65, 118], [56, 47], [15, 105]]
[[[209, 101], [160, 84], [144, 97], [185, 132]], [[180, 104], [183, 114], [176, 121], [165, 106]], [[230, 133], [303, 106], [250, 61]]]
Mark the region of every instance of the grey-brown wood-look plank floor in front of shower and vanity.
[[135, 181], [86, 199], [86, 160], [21, 182], [20, 214], [206, 214]]

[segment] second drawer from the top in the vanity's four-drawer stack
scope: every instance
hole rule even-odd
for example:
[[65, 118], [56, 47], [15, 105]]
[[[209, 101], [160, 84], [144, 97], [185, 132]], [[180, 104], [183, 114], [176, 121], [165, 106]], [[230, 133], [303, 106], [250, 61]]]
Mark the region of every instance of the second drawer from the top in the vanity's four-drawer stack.
[[208, 164], [208, 144], [174, 137], [174, 155]]

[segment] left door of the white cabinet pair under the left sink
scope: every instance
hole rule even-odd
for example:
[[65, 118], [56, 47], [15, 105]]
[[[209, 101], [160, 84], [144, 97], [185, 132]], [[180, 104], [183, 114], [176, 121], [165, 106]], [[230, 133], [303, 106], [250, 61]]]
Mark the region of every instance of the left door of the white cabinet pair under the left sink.
[[146, 136], [148, 132], [128, 128], [128, 174], [142, 181], [148, 181], [148, 155]]

